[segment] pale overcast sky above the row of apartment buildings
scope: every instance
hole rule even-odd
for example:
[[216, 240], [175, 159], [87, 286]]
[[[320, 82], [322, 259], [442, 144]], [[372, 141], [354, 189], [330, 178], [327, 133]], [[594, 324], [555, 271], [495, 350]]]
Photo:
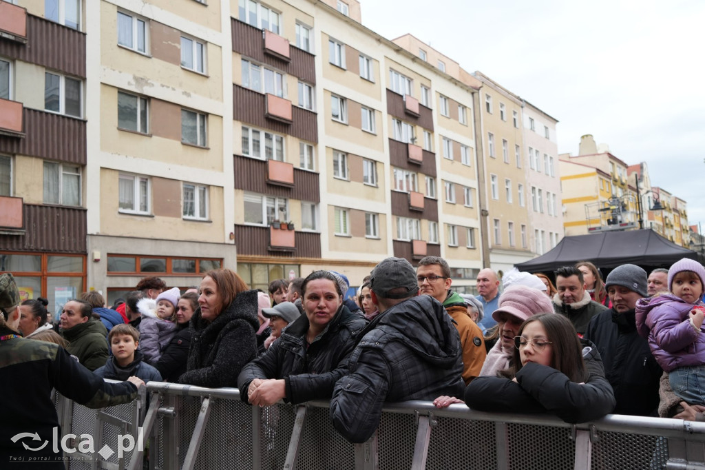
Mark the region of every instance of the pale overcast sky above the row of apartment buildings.
[[362, 24], [410, 33], [558, 119], [558, 151], [594, 135], [705, 231], [705, 1], [361, 0]]

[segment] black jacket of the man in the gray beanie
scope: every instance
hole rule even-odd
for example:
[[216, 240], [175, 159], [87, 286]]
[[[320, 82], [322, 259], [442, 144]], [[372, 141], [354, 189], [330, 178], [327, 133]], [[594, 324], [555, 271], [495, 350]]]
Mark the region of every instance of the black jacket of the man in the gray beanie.
[[615, 414], [658, 416], [658, 381], [663, 372], [649, 343], [637, 333], [635, 311], [620, 314], [610, 308], [599, 313], [590, 321], [585, 337], [602, 356], [617, 400]]

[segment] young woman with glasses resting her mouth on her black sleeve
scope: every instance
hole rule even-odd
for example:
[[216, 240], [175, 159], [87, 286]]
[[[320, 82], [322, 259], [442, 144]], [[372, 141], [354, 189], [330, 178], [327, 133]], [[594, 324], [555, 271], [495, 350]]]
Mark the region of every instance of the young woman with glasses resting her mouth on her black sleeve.
[[512, 366], [498, 377], [479, 377], [465, 403], [480, 411], [550, 413], [567, 423], [610, 413], [615, 397], [597, 349], [577, 337], [563, 315], [534, 315], [514, 339]]

